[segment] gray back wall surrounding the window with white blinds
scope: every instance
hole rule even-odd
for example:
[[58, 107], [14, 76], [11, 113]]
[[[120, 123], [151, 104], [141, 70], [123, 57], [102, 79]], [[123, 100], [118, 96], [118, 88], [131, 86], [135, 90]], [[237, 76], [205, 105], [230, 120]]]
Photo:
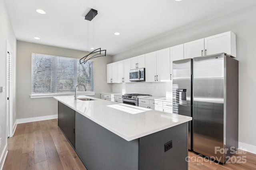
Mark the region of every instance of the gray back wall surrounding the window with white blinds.
[[[17, 41], [17, 119], [56, 115], [58, 102], [53, 98], [31, 99], [31, 53], [82, 58], [84, 51], [52, 47]], [[112, 56], [94, 59], [94, 91], [96, 98], [100, 92], [111, 92], [112, 85], [106, 83], [106, 64], [111, 63]]]

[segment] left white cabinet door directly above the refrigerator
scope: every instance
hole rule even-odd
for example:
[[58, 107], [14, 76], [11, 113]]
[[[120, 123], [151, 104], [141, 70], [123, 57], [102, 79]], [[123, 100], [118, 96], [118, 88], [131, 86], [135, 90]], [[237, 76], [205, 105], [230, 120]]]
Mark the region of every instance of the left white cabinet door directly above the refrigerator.
[[204, 39], [198, 39], [184, 44], [184, 59], [204, 56]]

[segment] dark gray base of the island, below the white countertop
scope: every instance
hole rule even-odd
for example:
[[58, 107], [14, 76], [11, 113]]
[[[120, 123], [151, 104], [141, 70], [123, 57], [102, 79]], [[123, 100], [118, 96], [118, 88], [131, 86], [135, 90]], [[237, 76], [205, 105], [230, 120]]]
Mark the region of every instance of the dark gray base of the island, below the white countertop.
[[188, 170], [188, 122], [127, 141], [62, 102], [58, 116], [88, 170]]

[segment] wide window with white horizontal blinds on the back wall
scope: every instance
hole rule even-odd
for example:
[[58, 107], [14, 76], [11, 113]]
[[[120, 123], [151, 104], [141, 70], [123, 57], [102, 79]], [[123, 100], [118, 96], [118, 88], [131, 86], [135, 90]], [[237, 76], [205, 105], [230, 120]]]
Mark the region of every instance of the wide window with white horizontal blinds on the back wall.
[[[32, 53], [31, 97], [73, 94], [76, 84], [83, 83], [94, 93], [94, 63], [80, 64], [79, 59]], [[84, 92], [79, 86], [78, 92]]]

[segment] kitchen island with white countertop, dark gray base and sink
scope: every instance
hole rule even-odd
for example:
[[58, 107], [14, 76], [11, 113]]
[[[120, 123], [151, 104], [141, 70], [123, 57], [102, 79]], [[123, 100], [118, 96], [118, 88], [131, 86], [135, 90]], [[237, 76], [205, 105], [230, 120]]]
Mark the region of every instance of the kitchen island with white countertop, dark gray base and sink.
[[188, 169], [192, 117], [88, 96], [54, 98], [58, 126], [88, 170]]

